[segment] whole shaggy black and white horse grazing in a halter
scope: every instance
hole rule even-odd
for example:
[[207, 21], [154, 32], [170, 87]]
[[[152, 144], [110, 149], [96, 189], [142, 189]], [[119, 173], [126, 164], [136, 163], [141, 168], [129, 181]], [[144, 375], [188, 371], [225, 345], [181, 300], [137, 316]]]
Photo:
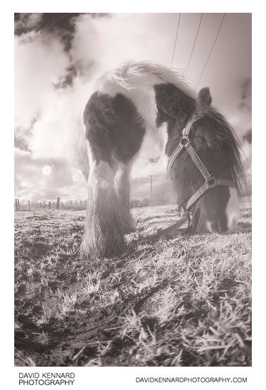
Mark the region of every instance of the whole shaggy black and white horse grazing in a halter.
[[209, 88], [194, 96], [171, 69], [129, 63], [96, 81], [72, 134], [88, 186], [86, 256], [123, 251], [124, 235], [135, 230], [129, 175], [145, 134], [160, 145], [177, 203], [191, 215], [189, 231], [228, 232], [238, 222], [239, 145]]

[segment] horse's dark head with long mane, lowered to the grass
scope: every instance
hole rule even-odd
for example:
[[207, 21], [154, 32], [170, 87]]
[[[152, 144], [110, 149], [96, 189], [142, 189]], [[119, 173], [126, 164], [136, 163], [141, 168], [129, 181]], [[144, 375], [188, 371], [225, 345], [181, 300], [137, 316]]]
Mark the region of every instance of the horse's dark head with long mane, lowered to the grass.
[[[175, 145], [182, 138], [181, 128], [172, 141]], [[199, 156], [206, 171], [212, 177], [233, 185], [216, 185], [208, 188], [190, 207], [192, 224], [190, 231], [228, 232], [238, 222], [240, 215], [238, 193], [243, 180], [238, 141], [224, 117], [211, 107], [209, 88], [199, 91], [194, 108], [194, 120], [189, 130], [189, 142]], [[194, 153], [194, 151], [192, 152]], [[171, 176], [177, 187], [177, 202], [187, 206], [189, 198], [204, 185], [206, 178], [184, 148], [172, 164]]]

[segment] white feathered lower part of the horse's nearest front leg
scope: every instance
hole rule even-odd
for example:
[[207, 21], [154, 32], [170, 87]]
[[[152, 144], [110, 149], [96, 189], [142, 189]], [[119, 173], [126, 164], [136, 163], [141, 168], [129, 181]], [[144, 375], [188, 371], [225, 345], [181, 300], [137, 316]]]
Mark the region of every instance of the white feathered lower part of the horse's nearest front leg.
[[123, 250], [124, 220], [114, 185], [115, 169], [108, 162], [93, 162], [89, 172], [87, 215], [82, 253], [109, 256]]

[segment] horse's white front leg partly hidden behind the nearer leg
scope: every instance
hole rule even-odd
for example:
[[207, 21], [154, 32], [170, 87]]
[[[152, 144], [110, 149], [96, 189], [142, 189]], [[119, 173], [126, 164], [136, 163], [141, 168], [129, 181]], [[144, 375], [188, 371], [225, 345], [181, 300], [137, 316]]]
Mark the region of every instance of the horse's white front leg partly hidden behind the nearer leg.
[[129, 175], [131, 172], [132, 161], [128, 164], [119, 164], [116, 173], [116, 193], [121, 207], [121, 219], [125, 234], [135, 231], [135, 223], [131, 214], [131, 186]]

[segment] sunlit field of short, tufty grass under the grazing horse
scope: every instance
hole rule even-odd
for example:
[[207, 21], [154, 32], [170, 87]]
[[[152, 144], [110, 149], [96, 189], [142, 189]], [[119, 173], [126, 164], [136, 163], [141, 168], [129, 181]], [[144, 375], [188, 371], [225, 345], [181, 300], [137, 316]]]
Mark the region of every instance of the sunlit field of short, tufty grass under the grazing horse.
[[122, 256], [82, 260], [81, 211], [15, 213], [16, 366], [250, 366], [251, 209], [233, 234], [154, 238], [134, 209]]

